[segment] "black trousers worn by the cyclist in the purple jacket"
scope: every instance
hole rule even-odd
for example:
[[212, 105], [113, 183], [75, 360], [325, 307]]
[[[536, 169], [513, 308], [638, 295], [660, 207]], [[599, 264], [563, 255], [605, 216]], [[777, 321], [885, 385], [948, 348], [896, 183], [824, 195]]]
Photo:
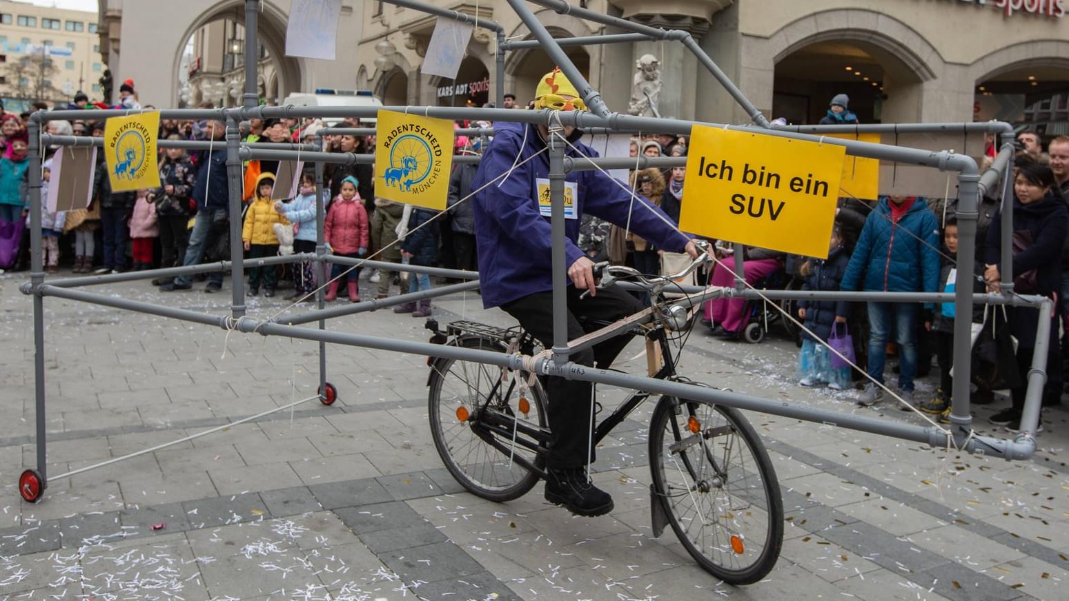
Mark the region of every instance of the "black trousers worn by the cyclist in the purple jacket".
[[[553, 292], [534, 292], [501, 306], [506, 313], [516, 318], [524, 330], [542, 344], [553, 346]], [[642, 309], [638, 299], [617, 287], [598, 290], [597, 296], [579, 298], [575, 287], [568, 288], [568, 338], [575, 339], [585, 331], [579, 317], [616, 320]], [[591, 327], [591, 329], [597, 329]], [[620, 335], [591, 349], [572, 354], [571, 360], [580, 365], [601, 369], [613, 364], [616, 355], [628, 346], [630, 335]], [[549, 397], [549, 457], [548, 468], [554, 470], [582, 468], [587, 464], [587, 454], [593, 461], [590, 439], [593, 431], [591, 421], [592, 385], [590, 382], [569, 380], [560, 377], [547, 379], [546, 394]], [[589, 449], [589, 450], [588, 450]]]

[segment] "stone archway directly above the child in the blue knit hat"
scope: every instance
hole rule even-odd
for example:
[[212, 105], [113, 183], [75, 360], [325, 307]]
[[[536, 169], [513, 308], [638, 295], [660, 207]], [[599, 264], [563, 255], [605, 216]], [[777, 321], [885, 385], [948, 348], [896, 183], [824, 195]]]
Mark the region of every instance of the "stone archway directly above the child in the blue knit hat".
[[[845, 67], [852, 66], [849, 63], [828, 67], [831, 72], [838, 69], [836, 74], [827, 74], [833, 83], [841, 79], [841, 83], [849, 83], [850, 89], [857, 90], [858, 93], [864, 91], [865, 102], [862, 106], [870, 118], [876, 115], [884, 123], [924, 121], [921, 100], [925, 85], [938, 79], [940, 74], [936, 68], [942, 68], [942, 57], [904, 22], [867, 10], [817, 13], [784, 26], [766, 39], [744, 37], [744, 48], [740, 52], [742, 69], [753, 77], [744, 80], [743, 92], [762, 110], [777, 105], [785, 106], [783, 89], [784, 82], [790, 79], [788, 68], [797, 73], [799, 65], [837, 54], [862, 61], [872, 67], [873, 74], [879, 75], [879, 80], [869, 78], [869, 81], [861, 82], [864, 85], [857, 85], [856, 80], [868, 76], [854, 76], [852, 72], [848, 74]], [[770, 58], [777, 69], [769, 69], [764, 61]], [[779, 69], [780, 65], [787, 68]], [[777, 82], [780, 85], [777, 86]], [[883, 90], [879, 90], [880, 88]], [[791, 94], [799, 102], [805, 100], [806, 108], [795, 107], [795, 112], [804, 114], [807, 122], [814, 117], [819, 118], [818, 115], [823, 113], [812, 102], [826, 105], [834, 95], [823, 88], [819, 90], [820, 98], [816, 98], [818, 92], [812, 88], [793, 91]]]

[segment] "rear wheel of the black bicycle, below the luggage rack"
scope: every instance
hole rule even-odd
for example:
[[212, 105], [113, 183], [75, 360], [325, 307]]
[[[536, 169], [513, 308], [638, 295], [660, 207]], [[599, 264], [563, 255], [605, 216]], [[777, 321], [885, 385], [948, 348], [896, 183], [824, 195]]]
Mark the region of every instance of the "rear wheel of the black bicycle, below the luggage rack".
[[[502, 351], [500, 345], [478, 338], [460, 346]], [[515, 461], [523, 458], [540, 469], [544, 464], [534, 450], [539, 441], [524, 433], [546, 428], [545, 393], [538, 380], [524, 395], [511, 373], [501, 380], [496, 365], [444, 359], [432, 367], [430, 389], [431, 438], [461, 486], [502, 502], [523, 496], [538, 483], [537, 473]]]

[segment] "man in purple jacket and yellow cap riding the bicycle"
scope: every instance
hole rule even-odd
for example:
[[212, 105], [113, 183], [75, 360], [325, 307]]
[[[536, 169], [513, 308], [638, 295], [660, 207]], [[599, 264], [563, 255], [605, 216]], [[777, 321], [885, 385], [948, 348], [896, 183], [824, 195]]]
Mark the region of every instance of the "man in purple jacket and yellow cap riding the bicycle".
[[[583, 110], [586, 107], [575, 86], [559, 69], [554, 69], [539, 81], [534, 108]], [[524, 330], [549, 346], [554, 342], [549, 203], [540, 193], [548, 189], [549, 183], [549, 157], [543, 152], [549, 129], [545, 125], [507, 122], [495, 123], [494, 129], [494, 140], [471, 184], [472, 189], [479, 190], [474, 207], [483, 306], [500, 306]], [[560, 141], [567, 146], [566, 155], [598, 156], [593, 148], [579, 142], [580, 130], [564, 126], [557, 131], [554, 135], [567, 140], [567, 143]], [[541, 156], [534, 156], [539, 153]], [[485, 189], [481, 189], [483, 186]], [[566, 197], [571, 194], [573, 199], [564, 217], [571, 284], [568, 337], [574, 339], [584, 334], [580, 317], [615, 320], [642, 309], [635, 297], [620, 288], [595, 288], [594, 263], [576, 243], [585, 212], [620, 226], [630, 225], [631, 231], [666, 251], [685, 251], [696, 258], [698, 250], [691, 237], [679, 232], [660, 208], [601, 171], [569, 173], [564, 186]], [[584, 292], [589, 294], [584, 296]], [[629, 339], [626, 335], [617, 336], [592, 349], [574, 352], [571, 360], [607, 368]], [[588, 461], [594, 460], [590, 447], [591, 384], [551, 377], [546, 394], [552, 432], [546, 458], [546, 501], [583, 516], [607, 513], [613, 509], [611, 496], [594, 487], [586, 472]]]

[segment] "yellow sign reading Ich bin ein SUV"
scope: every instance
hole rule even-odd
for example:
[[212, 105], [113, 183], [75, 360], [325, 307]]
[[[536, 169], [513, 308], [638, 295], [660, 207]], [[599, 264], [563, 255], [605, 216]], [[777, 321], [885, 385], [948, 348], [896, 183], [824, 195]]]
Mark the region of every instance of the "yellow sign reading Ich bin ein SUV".
[[846, 148], [694, 126], [680, 230], [826, 257]]

